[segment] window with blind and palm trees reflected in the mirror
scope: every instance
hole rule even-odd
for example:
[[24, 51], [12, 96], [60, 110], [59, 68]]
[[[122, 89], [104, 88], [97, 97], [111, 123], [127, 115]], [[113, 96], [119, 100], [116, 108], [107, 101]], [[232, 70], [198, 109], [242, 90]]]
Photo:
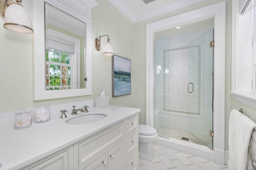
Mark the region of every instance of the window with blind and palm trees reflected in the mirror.
[[80, 88], [80, 40], [52, 29], [46, 31], [46, 90]]

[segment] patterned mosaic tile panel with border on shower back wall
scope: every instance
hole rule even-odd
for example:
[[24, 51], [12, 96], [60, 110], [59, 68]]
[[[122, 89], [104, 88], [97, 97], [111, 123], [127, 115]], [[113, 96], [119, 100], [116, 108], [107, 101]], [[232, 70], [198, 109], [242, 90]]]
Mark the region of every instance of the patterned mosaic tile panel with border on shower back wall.
[[201, 115], [201, 45], [164, 50], [164, 67], [164, 111]]

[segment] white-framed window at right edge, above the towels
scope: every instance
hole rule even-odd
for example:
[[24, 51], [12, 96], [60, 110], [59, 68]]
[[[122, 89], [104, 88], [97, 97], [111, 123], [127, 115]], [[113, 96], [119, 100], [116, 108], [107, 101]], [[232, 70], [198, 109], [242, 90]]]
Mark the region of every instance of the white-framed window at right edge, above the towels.
[[256, 0], [235, 0], [232, 11], [234, 99], [256, 107]]

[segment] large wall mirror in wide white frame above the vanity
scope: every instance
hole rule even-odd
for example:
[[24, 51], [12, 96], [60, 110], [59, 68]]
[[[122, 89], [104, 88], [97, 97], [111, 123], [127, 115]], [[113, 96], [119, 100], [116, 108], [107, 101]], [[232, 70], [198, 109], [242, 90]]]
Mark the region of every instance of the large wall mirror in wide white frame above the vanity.
[[33, 100], [92, 94], [92, 21], [74, 0], [33, 3]]

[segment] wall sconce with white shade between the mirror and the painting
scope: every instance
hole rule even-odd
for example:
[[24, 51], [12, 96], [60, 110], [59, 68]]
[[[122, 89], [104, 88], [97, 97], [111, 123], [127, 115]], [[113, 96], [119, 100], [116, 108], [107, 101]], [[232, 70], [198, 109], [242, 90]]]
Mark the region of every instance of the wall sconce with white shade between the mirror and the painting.
[[[95, 42], [95, 49], [97, 51], [100, 51], [100, 49], [101, 49], [101, 47], [100, 47], [100, 41], [101, 41], [100, 38], [104, 37], [104, 36], [108, 36], [108, 35], [106, 34], [106, 35], [99, 36], [99, 38], [96, 38], [94, 40], [94, 42]], [[112, 56], [112, 55], [114, 55], [113, 48], [112, 48], [112, 45], [110, 44], [109, 40], [110, 39], [107, 38], [107, 41], [106, 41], [106, 43], [103, 46], [102, 55], [105, 55], [105, 56]]]

